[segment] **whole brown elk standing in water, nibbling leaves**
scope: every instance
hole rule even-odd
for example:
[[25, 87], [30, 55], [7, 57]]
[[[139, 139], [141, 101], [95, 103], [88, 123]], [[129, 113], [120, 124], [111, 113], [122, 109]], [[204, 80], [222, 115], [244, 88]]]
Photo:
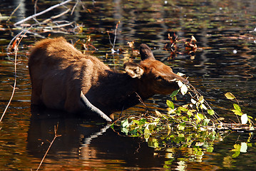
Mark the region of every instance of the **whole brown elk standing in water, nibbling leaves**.
[[62, 37], [39, 41], [29, 56], [31, 104], [69, 113], [89, 108], [110, 115], [140, 103], [138, 95], [143, 100], [168, 95], [178, 89], [176, 80], [188, 83], [155, 60], [147, 45], [140, 45], [140, 56], [140, 64], [127, 62], [126, 72], [118, 73], [98, 58], [83, 55]]

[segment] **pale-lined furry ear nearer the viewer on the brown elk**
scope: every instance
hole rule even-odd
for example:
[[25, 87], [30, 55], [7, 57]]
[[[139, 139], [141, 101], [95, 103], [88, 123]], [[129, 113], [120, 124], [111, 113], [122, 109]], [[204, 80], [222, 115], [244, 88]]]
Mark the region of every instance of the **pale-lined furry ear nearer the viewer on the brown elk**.
[[141, 68], [137, 63], [127, 62], [123, 67], [131, 78], [141, 78], [144, 73], [143, 68]]

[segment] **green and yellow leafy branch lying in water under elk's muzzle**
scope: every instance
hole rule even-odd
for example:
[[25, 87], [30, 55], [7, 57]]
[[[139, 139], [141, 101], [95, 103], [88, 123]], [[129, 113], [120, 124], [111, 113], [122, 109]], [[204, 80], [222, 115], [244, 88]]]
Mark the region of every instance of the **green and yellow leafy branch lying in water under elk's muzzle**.
[[[203, 95], [200, 95], [192, 85], [181, 81], [178, 81], [178, 85], [180, 89], [175, 90], [170, 95], [170, 100], [166, 101], [166, 113], [155, 110], [155, 113], [140, 116], [125, 115], [116, 120], [111, 128], [131, 137], [143, 138], [148, 142], [148, 146], [156, 149], [204, 145], [206, 151], [213, 151], [213, 142], [222, 140], [222, 134], [232, 130], [254, 130], [253, 118], [242, 113], [232, 93], [225, 94], [227, 99], [237, 101], [237, 104], [233, 104], [232, 112], [237, 115], [238, 123], [231, 124], [226, 123], [225, 118], [215, 113]], [[190, 95], [190, 103], [175, 105], [173, 101], [177, 100], [176, 95], [179, 92], [182, 95]]]

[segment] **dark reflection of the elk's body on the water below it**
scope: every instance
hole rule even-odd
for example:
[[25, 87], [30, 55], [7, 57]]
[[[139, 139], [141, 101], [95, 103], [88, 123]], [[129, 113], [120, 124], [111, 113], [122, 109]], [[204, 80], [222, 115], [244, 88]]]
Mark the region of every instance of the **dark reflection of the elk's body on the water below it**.
[[81, 166], [96, 170], [115, 165], [151, 169], [163, 167], [165, 157], [155, 160], [154, 149], [148, 147], [146, 142], [119, 135], [104, 122], [63, 115], [65, 113], [56, 110], [32, 110], [27, 138], [29, 155], [39, 159], [43, 157], [49, 141], [53, 139], [54, 127], [57, 126], [57, 134], [61, 135], [53, 142], [43, 167], [60, 161], [65, 165], [67, 161], [77, 162], [77, 159]]

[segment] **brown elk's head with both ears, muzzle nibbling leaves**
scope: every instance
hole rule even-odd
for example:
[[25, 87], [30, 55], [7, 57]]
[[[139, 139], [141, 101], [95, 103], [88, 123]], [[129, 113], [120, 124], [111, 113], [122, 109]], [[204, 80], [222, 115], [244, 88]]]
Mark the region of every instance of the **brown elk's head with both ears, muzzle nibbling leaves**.
[[130, 77], [139, 79], [140, 92], [168, 95], [179, 88], [178, 80], [188, 83], [188, 80], [173, 73], [172, 68], [156, 60], [145, 44], [140, 45], [140, 57], [139, 64], [128, 62], [124, 65]]

